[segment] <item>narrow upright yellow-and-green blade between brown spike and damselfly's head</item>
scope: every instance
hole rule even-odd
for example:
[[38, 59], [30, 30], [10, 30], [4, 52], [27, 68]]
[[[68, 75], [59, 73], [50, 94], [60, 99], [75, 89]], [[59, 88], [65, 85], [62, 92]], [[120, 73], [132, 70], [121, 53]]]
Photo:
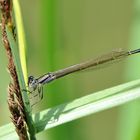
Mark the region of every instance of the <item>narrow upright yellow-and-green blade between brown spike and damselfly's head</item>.
[[[25, 41], [25, 33], [22, 21], [22, 14], [21, 8], [19, 4], [19, 0], [13, 1], [13, 9], [14, 9], [14, 16], [17, 28], [17, 35], [18, 35], [18, 48], [15, 41], [12, 39], [12, 36], [8, 34], [10, 45], [12, 49], [12, 54], [14, 57], [14, 63], [16, 65], [16, 70], [18, 74], [19, 84], [21, 89], [27, 88], [27, 67], [26, 67], [26, 41]], [[19, 52], [18, 50], [19, 49]], [[19, 54], [19, 55], [18, 55]], [[29, 128], [29, 135], [31, 139], [35, 139], [35, 129], [32, 121], [32, 109], [30, 107], [29, 99], [27, 92], [22, 92], [22, 99], [25, 106], [25, 115], [27, 118], [27, 125]]]

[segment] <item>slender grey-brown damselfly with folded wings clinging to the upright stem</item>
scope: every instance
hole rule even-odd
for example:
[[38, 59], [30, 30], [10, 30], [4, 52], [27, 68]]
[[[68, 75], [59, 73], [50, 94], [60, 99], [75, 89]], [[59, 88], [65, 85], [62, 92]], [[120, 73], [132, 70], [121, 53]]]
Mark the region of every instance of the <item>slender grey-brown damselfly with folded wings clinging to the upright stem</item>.
[[91, 67], [94, 68], [96, 66], [106, 64], [108, 62], [121, 60], [122, 58], [125, 58], [129, 55], [136, 54], [136, 53], [140, 53], [140, 49], [136, 49], [132, 51], [124, 51], [122, 49], [116, 49], [110, 53], [101, 55], [95, 59], [91, 59], [80, 64], [72, 65], [70, 67], [60, 69], [58, 71], [49, 72], [47, 74], [44, 74], [43, 76], [40, 76], [39, 78], [34, 78], [33, 76], [29, 76], [28, 87], [29, 87], [29, 92], [31, 93], [30, 97], [33, 100], [34, 98], [37, 98], [37, 100], [33, 101], [31, 104], [34, 105], [43, 98], [44, 84], [50, 83], [55, 79], [61, 78], [63, 76], [66, 76], [74, 72], [82, 71]]

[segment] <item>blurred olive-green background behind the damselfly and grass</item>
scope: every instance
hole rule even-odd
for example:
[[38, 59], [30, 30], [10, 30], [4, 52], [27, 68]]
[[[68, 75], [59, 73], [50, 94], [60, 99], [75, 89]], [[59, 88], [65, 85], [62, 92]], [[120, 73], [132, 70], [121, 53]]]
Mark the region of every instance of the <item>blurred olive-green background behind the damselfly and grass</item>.
[[[139, 0], [24, 0], [29, 75], [40, 76], [115, 48], [140, 47]], [[5, 50], [0, 44], [0, 125], [10, 122]], [[140, 55], [79, 72], [44, 87], [33, 112], [140, 77]], [[37, 134], [49, 140], [139, 140], [140, 102], [116, 107]]]

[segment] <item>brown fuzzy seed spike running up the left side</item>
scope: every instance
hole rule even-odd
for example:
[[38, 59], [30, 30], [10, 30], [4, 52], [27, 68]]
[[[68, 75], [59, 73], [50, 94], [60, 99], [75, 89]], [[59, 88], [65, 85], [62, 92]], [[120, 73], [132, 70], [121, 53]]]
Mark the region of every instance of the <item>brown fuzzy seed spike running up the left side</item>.
[[12, 22], [12, 1], [11, 0], [0, 0], [1, 9], [1, 30], [2, 30], [2, 41], [6, 50], [8, 58], [8, 70], [12, 79], [12, 82], [8, 86], [8, 105], [9, 110], [12, 114], [11, 119], [16, 127], [16, 132], [20, 140], [28, 140], [26, 118], [24, 111], [24, 104], [21, 96], [21, 90], [18, 82], [18, 76], [16, 67], [14, 64], [10, 43], [7, 38], [6, 26], [11, 29], [13, 38], [15, 39], [14, 26]]

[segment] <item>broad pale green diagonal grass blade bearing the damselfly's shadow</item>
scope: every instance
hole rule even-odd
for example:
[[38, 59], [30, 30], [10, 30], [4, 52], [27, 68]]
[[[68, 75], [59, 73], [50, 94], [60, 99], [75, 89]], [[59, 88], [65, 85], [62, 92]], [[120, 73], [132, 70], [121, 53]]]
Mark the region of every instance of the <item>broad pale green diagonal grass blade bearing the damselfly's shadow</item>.
[[[37, 133], [140, 98], [140, 79], [105, 89], [33, 115]], [[4, 130], [6, 130], [4, 132]], [[0, 136], [13, 135], [14, 127], [0, 127]], [[13, 132], [13, 133], [12, 133]], [[0, 137], [0, 138], [2, 138]]]

